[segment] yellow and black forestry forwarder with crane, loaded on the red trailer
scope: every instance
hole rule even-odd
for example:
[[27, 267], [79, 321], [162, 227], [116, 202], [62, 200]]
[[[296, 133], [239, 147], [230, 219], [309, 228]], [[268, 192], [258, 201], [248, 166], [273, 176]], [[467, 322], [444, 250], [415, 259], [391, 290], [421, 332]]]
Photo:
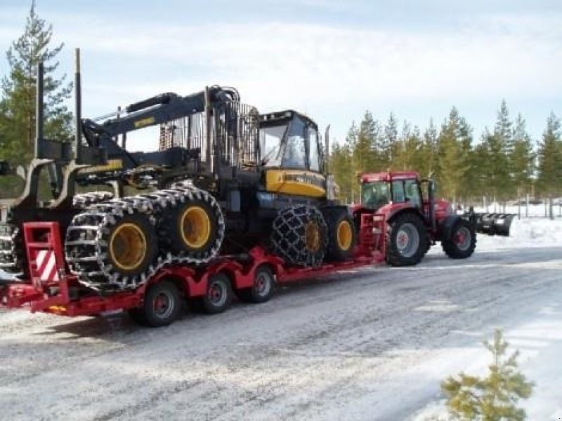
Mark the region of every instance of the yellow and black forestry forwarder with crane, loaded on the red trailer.
[[[162, 267], [199, 267], [254, 246], [295, 267], [351, 256], [353, 218], [336, 201], [318, 126], [308, 117], [291, 110], [259, 114], [240, 103], [235, 89], [211, 86], [185, 97], [157, 95], [96, 122], [81, 119], [78, 51], [75, 77], [70, 145], [43, 137], [39, 66], [35, 158], [20, 198], [2, 203], [0, 269], [31, 276], [23, 231], [37, 221], [60, 226], [79, 295], [84, 288], [133, 290]], [[127, 133], [155, 125], [171, 147], [126, 150]], [[38, 198], [44, 169], [49, 201]], [[15, 173], [21, 171], [0, 163], [0, 175]], [[113, 192], [75, 194], [77, 185], [110, 185]], [[144, 192], [124, 196], [124, 187]]]

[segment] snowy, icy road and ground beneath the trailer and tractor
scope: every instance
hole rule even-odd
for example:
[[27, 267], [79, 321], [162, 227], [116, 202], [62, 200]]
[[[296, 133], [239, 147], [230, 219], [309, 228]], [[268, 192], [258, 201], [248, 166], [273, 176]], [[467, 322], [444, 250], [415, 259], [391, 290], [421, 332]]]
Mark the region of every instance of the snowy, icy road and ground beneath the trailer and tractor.
[[537, 382], [529, 419], [558, 420], [562, 225], [531, 223], [479, 236], [469, 260], [436, 246], [418, 267], [308, 281], [167, 328], [0, 310], [1, 419], [424, 420], [440, 380], [485, 367], [481, 340], [501, 326]]

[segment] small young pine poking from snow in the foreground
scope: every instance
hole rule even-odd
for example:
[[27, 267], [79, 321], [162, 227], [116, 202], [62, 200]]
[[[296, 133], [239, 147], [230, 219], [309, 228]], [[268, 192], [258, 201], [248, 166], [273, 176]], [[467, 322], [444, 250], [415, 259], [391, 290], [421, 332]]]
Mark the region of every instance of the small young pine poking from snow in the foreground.
[[519, 353], [506, 357], [509, 344], [499, 329], [495, 330], [494, 342], [484, 341], [484, 345], [493, 358], [487, 377], [460, 373], [441, 383], [450, 414], [463, 421], [525, 420], [525, 410], [517, 408], [516, 403], [527, 399], [534, 385], [517, 369]]

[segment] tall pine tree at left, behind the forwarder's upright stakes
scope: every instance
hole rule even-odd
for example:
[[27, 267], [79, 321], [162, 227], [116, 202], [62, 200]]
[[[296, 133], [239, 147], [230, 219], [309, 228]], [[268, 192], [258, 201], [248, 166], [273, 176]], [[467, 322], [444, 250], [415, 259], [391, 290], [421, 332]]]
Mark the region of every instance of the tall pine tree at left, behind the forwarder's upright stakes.
[[46, 138], [69, 140], [72, 114], [65, 106], [70, 97], [66, 76], [55, 78], [56, 55], [64, 44], [51, 48], [53, 27], [37, 15], [32, 2], [25, 30], [6, 53], [9, 74], [2, 80], [0, 101], [0, 156], [11, 163], [27, 163], [33, 152], [35, 138], [35, 93], [37, 65], [44, 62], [45, 131]]

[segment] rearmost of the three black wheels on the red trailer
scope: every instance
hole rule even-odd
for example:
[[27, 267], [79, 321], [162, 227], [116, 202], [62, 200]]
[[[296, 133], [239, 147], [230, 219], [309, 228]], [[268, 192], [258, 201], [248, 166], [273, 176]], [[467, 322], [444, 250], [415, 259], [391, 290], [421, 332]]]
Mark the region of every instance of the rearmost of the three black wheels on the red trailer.
[[171, 281], [159, 281], [148, 287], [143, 307], [130, 309], [133, 321], [144, 326], [158, 328], [168, 326], [178, 319], [181, 312], [181, 296]]

